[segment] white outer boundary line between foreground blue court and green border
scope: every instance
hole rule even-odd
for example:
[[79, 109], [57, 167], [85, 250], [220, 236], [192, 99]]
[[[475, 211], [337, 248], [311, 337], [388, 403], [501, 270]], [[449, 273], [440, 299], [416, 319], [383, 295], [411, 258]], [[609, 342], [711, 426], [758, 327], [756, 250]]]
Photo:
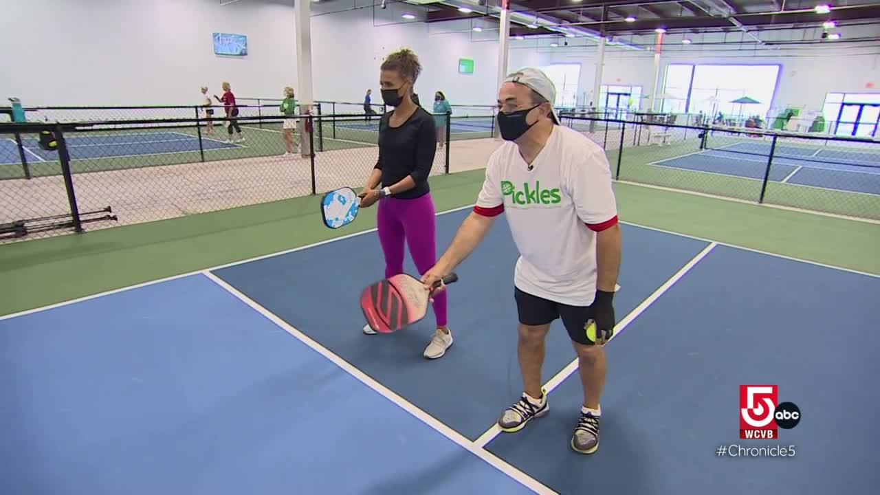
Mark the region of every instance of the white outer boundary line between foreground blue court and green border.
[[[646, 186], [643, 186], [642, 184], [638, 184], [638, 183], [635, 183], [635, 184], [632, 184], [632, 185], [634, 185], [634, 186], [638, 186], [638, 187], [646, 187]], [[685, 192], [686, 192], [686, 191], [679, 191], [678, 189], [673, 189], [672, 191], [673, 191], [673, 192], [681, 192], [681, 193], [685, 193]], [[726, 199], [726, 198], [722, 198], [722, 199]], [[748, 203], [748, 204], [755, 204], [755, 203]], [[466, 205], [464, 205], [464, 206], [459, 206], [459, 207], [456, 207], [456, 208], [451, 208], [450, 210], [437, 211], [436, 214], [435, 214], [435, 217], [440, 217], [440, 216], [442, 216], [442, 215], [446, 215], [446, 214], [449, 214], [449, 213], [454, 213], [454, 212], [456, 212], [456, 211], [469, 210], [469, 209], [472, 209], [473, 206], [474, 206], [474, 203], [470, 203], [470, 204], [466, 204]], [[810, 212], [807, 212], [806, 214], [813, 215], [813, 214], [816, 214], [816, 213], [813, 213], [813, 212], [810, 211]], [[850, 269], [850, 268], [846, 268], [846, 267], [841, 267], [841, 266], [835, 266], [835, 265], [832, 265], [832, 264], [827, 264], [827, 263], [822, 263], [822, 262], [814, 262], [814, 261], [810, 261], [810, 260], [805, 260], [805, 259], [803, 259], [803, 258], [797, 258], [797, 257], [795, 257], [795, 256], [780, 255], [780, 254], [778, 254], [778, 253], [772, 253], [772, 252], [770, 252], [770, 251], [762, 251], [762, 250], [760, 250], [760, 249], [756, 249], [756, 248], [752, 248], [752, 247], [738, 246], [737, 244], [731, 244], [731, 243], [729, 243], [729, 242], [722, 242], [722, 241], [720, 241], [720, 240], [704, 239], [704, 238], [701, 238], [701, 237], [698, 237], [698, 236], [695, 236], [695, 235], [692, 235], [692, 234], [678, 233], [678, 232], [671, 231], [671, 230], [665, 230], [665, 229], [661, 229], [661, 228], [657, 228], [657, 227], [651, 227], [651, 226], [649, 226], [649, 225], [636, 224], [636, 223], [634, 223], [634, 222], [627, 222], [627, 221], [624, 221], [624, 220], [620, 220], [620, 224], [622, 224], [622, 225], [632, 225], [632, 226], [634, 226], [634, 227], [640, 227], [640, 228], [644, 228], [644, 229], [648, 229], [648, 230], [652, 230], [652, 231], [656, 231], [656, 232], [660, 232], [660, 233], [669, 233], [669, 234], [672, 234], [672, 235], [678, 235], [678, 236], [680, 236], [680, 237], [686, 237], [686, 238], [688, 238], [688, 239], [702, 240], [702, 241], [704, 241], [704, 242], [715, 242], [715, 243], [718, 244], [719, 246], [733, 247], [733, 248], [735, 248], [735, 249], [743, 249], [744, 251], [752, 251], [752, 253], [758, 253], [759, 255], [774, 256], [774, 257], [777, 257], [777, 258], [782, 258], [782, 259], [786, 259], [786, 260], [790, 260], [790, 261], [794, 261], [794, 262], [803, 262], [803, 263], [807, 263], [807, 264], [811, 264], [811, 265], [815, 265], [815, 266], [820, 266], [820, 267], [828, 268], [828, 269], [832, 269], [832, 270], [846, 271], [846, 272], [848, 272], [848, 273], [854, 273], [854, 274], [856, 274], [856, 275], [863, 275], [863, 276], [872, 277], [872, 278], [880, 278], [880, 275], [877, 275], [877, 274], [874, 274], [874, 273], [869, 273], [869, 272], [867, 272], [867, 271], [854, 270], [854, 269]], [[109, 290], [109, 291], [96, 292], [96, 293], [94, 293], [94, 294], [90, 294], [90, 295], [83, 296], [83, 297], [79, 297], [79, 298], [63, 300], [63, 301], [59, 301], [59, 302], [56, 302], [56, 303], [48, 304], [48, 305], [45, 305], [45, 306], [33, 307], [33, 308], [31, 308], [31, 309], [26, 309], [26, 310], [23, 310], [23, 311], [18, 311], [18, 312], [16, 312], [16, 313], [10, 313], [10, 314], [0, 315], [0, 321], [10, 320], [10, 319], [12, 319], [12, 318], [17, 318], [17, 317], [19, 317], [19, 316], [25, 316], [26, 314], [39, 313], [40, 311], [46, 311], [46, 310], [49, 310], [49, 309], [55, 309], [56, 307], [64, 307], [64, 306], [68, 306], [68, 305], [70, 305], [70, 304], [74, 304], [74, 303], [77, 303], [77, 302], [84, 302], [84, 301], [89, 300], [89, 299], [97, 299], [97, 298], [101, 298], [101, 297], [108, 296], [108, 295], [111, 295], [111, 294], [115, 294], [115, 293], [118, 293], [118, 292], [125, 292], [125, 291], [131, 290], [131, 289], [138, 289], [138, 288], [141, 288], [141, 287], [146, 287], [146, 286], [149, 286], [149, 285], [152, 285], [152, 284], [161, 284], [161, 283], [163, 283], [163, 282], [170, 282], [170, 281], [172, 281], [172, 280], [176, 280], [176, 279], [178, 279], [178, 278], [183, 278], [183, 277], [189, 277], [189, 276], [192, 276], [192, 275], [196, 275], [196, 274], [198, 274], [198, 273], [201, 273], [201, 272], [204, 271], [204, 270], [211, 270], [211, 271], [213, 271], [213, 270], [222, 270], [222, 269], [224, 269], [224, 268], [229, 268], [229, 267], [231, 267], [231, 266], [237, 266], [237, 265], [245, 264], [245, 263], [249, 263], [249, 262], [257, 262], [257, 261], [265, 260], [265, 259], [268, 259], [268, 258], [274, 258], [275, 256], [288, 255], [288, 254], [290, 254], [290, 253], [295, 253], [295, 252], [297, 252], [297, 251], [302, 251], [302, 250], [304, 250], [304, 249], [310, 249], [310, 248], [312, 248], [312, 247], [323, 246], [323, 245], [325, 245], [325, 244], [329, 244], [329, 243], [331, 243], [331, 242], [336, 242], [336, 241], [339, 241], [339, 240], [351, 239], [351, 238], [353, 238], [353, 237], [357, 237], [357, 236], [360, 236], [360, 235], [365, 235], [365, 234], [368, 234], [368, 233], [374, 233], [374, 232], [377, 232], [377, 230], [378, 230], [378, 229], [377, 229], [376, 227], [373, 227], [373, 228], [370, 228], [370, 229], [367, 229], [367, 230], [363, 230], [363, 231], [358, 231], [358, 232], [355, 232], [355, 233], [348, 233], [348, 234], [345, 234], [345, 235], [341, 235], [341, 236], [339, 236], [339, 237], [333, 237], [333, 238], [326, 239], [326, 240], [319, 240], [318, 242], [313, 242], [312, 244], [306, 244], [306, 245], [304, 245], [304, 246], [292, 247], [292, 248], [290, 248], [290, 249], [284, 249], [284, 250], [282, 250], [282, 251], [276, 251], [276, 252], [274, 252], [274, 253], [268, 253], [268, 254], [266, 254], [266, 255], [252, 256], [252, 257], [250, 257], [250, 258], [245, 258], [245, 259], [243, 259], [243, 260], [238, 260], [238, 261], [236, 261], [236, 262], [228, 262], [228, 263], [224, 263], [224, 264], [217, 265], [217, 266], [214, 266], [214, 267], [203, 268], [203, 269], [200, 269], [200, 270], [192, 270], [192, 271], [188, 271], [188, 272], [186, 272], [186, 273], [180, 273], [180, 274], [172, 275], [172, 276], [169, 276], [169, 277], [156, 278], [156, 279], [154, 279], [154, 280], [147, 280], [147, 281], [145, 281], [145, 282], [141, 282], [141, 283], [138, 283], [138, 284], [131, 284], [131, 285], [123, 286], [123, 287], [118, 287], [118, 288], [116, 288], [116, 289], [111, 289], [111, 290]]]

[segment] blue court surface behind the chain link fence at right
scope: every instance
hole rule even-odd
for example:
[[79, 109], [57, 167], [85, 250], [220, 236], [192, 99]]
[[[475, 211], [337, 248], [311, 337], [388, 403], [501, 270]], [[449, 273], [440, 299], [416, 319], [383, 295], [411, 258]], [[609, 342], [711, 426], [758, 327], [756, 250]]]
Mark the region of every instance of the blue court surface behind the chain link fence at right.
[[[777, 145], [768, 180], [880, 195], [880, 145], [876, 152]], [[764, 180], [770, 144], [737, 143], [665, 159], [651, 165]]]

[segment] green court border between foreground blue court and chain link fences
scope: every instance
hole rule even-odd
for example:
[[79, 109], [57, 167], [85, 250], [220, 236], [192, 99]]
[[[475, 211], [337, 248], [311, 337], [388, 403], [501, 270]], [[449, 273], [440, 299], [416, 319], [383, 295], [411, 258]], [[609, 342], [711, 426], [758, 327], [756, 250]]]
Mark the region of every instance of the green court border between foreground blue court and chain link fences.
[[[432, 178], [437, 211], [472, 204], [483, 174], [473, 170]], [[617, 183], [615, 191], [624, 222], [880, 274], [880, 225], [627, 183]], [[376, 225], [371, 209], [351, 228], [327, 229], [318, 202], [317, 196], [304, 196], [2, 246], [0, 273], [11, 290], [0, 298], [0, 313], [203, 270]]]

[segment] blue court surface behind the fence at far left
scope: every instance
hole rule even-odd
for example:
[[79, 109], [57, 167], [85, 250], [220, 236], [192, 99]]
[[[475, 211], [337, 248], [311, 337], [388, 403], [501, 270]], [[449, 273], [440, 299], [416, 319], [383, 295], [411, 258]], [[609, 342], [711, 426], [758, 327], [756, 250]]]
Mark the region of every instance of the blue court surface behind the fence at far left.
[[[77, 133], [65, 136], [70, 159], [103, 159], [199, 151], [199, 137], [182, 132], [141, 132], [122, 134]], [[55, 161], [57, 151], [40, 148], [37, 137], [22, 137], [26, 159], [30, 162]], [[202, 137], [202, 149], [221, 150], [241, 148], [220, 139]], [[18, 144], [11, 138], [0, 139], [0, 165], [18, 164]]]

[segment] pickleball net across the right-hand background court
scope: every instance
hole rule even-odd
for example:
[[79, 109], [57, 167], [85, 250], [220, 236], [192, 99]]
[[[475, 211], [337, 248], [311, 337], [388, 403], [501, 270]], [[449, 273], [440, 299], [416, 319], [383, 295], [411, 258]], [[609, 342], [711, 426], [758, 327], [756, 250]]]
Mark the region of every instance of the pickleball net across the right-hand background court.
[[[776, 147], [773, 149], [774, 135]], [[800, 166], [847, 166], [880, 173], [880, 139], [817, 139], [815, 135], [774, 134], [763, 129], [710, 129], [702, 147], [713, 155]]]

